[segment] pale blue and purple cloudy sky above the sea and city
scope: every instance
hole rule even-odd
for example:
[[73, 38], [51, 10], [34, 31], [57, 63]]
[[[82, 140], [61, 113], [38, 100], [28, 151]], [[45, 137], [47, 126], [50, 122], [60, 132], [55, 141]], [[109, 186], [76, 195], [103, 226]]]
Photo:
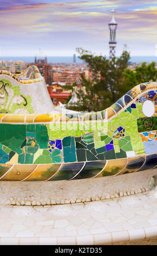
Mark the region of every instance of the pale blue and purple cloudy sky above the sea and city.
[[73, 56], [77, 47], [108, 56], [112, 8], [117, 56], [124, 45], [131, 56], [155, 56], [154, 0], [0, 0], [0, 56]]

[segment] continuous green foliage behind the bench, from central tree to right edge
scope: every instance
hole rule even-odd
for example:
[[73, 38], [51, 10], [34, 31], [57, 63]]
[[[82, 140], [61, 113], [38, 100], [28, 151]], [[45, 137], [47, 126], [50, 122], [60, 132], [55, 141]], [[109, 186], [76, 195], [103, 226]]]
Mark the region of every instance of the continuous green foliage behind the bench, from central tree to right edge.
[[112, 60], [105, 56], [95, 56], [90, 51], [77, 48], [80, 59], [84, 60], [92, 73], [92, 80], [87, 80], [82, 75], [82, 86], [86, 87], [87, 94], [83, 91], [77, 93], [77, 106], [70, 109], [77, 111], [101, 111], [120, 99], [125, 93], [137, 84], [156, 81], [157, 70], [155, 62], [136, 66], [135, 70], [128, 69], [130, 53], [123, 50], [119, 58]]

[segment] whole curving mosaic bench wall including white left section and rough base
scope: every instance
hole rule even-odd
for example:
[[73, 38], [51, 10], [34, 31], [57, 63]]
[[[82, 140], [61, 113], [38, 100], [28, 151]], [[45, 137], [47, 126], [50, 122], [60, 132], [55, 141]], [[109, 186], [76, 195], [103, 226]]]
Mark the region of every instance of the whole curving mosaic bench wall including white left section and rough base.
[[[12, 202], [32, 202], [43, 190], [50, 204], [120, 196], [147, 190], [156, 175], [155, 82], [101, 112], [58, 113], [37, 67], [18, 76], [1, 70], [0, 108], [0, 203], [15, 190]], [[24, 187], [29, 196], [19, 200]]]

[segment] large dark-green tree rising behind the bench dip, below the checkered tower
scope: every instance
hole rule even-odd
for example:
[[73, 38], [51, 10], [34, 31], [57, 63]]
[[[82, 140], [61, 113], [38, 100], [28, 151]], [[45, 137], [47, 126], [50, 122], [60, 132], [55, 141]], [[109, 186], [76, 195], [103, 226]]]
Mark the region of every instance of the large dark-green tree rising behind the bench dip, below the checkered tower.
[[92, 72], [92, 80], [82, 76], [82, 86], [86, 87], [87, 94], [77, 93], [78, 105], [75, 108], [80, 111], [100, 111], [112, 105], [128, 88], [124, 88], [123, 73], [128, 67], [129, 53], [124, 50], [120, 58], [112, 60], [105, 56], [94, 56], [90, 51], [77, 48], [80, 59], [88, 64]]

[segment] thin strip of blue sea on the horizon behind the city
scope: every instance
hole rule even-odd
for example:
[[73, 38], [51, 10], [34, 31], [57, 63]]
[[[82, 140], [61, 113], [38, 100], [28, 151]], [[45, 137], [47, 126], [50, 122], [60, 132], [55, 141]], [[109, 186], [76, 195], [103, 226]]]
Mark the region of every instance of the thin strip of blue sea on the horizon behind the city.
[[[117, 56], [119, 57], [119, 56]], [[45, 58], [45, 57], [41, 57]], [[109, 58], [107, 56], [107, 58]], [[12, 60], [16, 62], [17, 60], [24, 60], [25, 63], [34, 63], [35, 57], [34, 56], [1, 56], [1, 60]], [[47, 57], [48, 63], [73, 63], [73, 56], [48, 56]], [[157, 56], [131, 56], [129, 59], [131, 63], [142, 63], [142, 62], [157, 62]], [[83, 63], [83, 60], [76, 56], [76, 63]]]

